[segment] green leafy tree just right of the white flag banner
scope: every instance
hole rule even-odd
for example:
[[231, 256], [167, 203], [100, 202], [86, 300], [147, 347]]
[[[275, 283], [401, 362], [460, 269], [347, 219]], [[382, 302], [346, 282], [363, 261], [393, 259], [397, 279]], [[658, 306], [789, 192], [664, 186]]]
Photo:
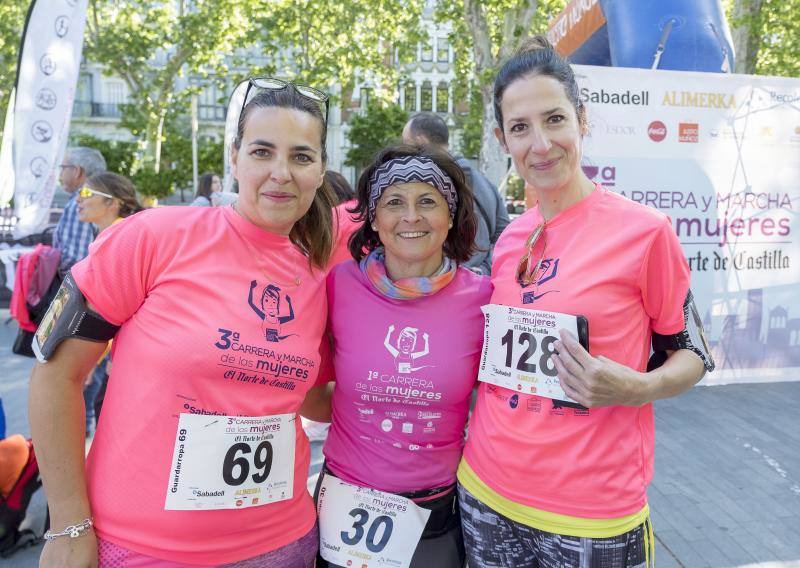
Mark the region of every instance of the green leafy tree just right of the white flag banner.
[[241, 44], [248, 29], [246, 5], [244, 0], [91, 0], [84, 55], [127, 83], [131, 100], [122, 125], [140, 137], [143, 165], [154, 173], [160, 171], [165, 124], [198, 90], [179, 89], [176, 78], [227, 70], [224, 53]]

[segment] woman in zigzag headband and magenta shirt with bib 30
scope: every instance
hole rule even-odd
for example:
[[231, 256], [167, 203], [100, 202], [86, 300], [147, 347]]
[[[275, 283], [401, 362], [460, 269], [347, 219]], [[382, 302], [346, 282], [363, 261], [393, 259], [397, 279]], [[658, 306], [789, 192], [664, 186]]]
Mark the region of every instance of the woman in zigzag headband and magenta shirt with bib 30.
[[318, 566], [463, 566], [455, 473], [490, 295], [459, 266], [473, 197], [450, 156], [415, 146], [381, 152], [357, 197], [355, 261], [328, 277], [336, 383]]

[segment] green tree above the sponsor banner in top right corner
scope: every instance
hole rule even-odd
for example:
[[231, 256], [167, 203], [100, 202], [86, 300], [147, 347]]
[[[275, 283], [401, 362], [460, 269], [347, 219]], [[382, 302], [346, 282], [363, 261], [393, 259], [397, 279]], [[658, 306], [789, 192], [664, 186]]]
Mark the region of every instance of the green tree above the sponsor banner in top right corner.
[[724, 0], [737, 73], [800, 77], [800, 0]]

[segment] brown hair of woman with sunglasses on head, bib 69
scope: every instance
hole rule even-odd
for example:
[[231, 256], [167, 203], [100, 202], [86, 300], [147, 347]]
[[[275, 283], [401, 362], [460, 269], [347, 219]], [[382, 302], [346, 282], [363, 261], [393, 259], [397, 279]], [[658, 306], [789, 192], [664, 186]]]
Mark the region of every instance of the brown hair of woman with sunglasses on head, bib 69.
[[[247, 117], [255, 109], [267, 107], [295, 109], [307, 112], [319, 120], [321, 125], [320, 145], [322, 147], [324, 167], [328, 161], [328, 154], [325, 149], [328, 125], [325, 124], [322, 109], [319, 104], [298, 93], [291, 85], [280, 90], [265, 89], [258, 91], [252, 100], [245, 105], [242, 109], [242, 114], [239, 116], [236, 138], [233, 141], [236, 149], [238, 150], [242, 145]], [[305, 215], [295, 222], [289, 233], [291, 241], [303, 251], [311, 264], [318, 268], [325, 267], [333, 250], [333, 212], [331, 210], [336, 203], [336, 195], [328, 183], [323, 180], [322, 185], [314, 194], [314, 201], [311, 203], [311, 207]]]

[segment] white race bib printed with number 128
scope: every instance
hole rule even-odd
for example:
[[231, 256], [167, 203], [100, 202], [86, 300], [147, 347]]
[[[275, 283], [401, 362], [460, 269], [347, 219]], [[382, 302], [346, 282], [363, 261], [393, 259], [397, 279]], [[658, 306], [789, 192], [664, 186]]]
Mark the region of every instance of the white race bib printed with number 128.
[[481, 310], [485, 323], [478, 380], [577, 404], [561, 388], [550, 357], [562, 329], [575, 335], [588, 350], [586, 318], [498, 304]]

